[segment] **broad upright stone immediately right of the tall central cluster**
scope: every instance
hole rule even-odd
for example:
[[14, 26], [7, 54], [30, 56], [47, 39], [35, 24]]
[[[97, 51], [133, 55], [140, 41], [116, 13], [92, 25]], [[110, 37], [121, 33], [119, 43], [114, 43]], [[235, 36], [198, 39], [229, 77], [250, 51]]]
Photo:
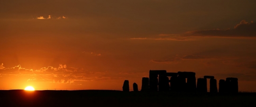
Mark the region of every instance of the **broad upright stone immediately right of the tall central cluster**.
[[207, 80], [205, 78], [197, 79], [197, 92], [207, 92]]

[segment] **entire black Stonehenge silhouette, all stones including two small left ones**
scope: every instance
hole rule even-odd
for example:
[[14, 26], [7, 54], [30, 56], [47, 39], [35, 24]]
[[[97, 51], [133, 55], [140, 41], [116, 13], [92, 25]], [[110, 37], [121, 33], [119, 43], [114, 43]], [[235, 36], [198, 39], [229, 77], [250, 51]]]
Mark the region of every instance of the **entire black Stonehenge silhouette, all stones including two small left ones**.
[[[214, 76], [204, 76], [196, 81], [195, 72], [166, 70], [150, 70], [149, 78], [142, 78], [140, 91], [172, 91], [172, 92], [208, 92], [207, 79], [210, 79], [210, 93], [217, 93], [217, 80]], [[133, 83], [133, 90], [138, 91], [138, 86]], [[129, 81], [125, 80], [123, 91], [129, 91]], [[219, 93], [238, 92], [238, 78], [219, 80]]]

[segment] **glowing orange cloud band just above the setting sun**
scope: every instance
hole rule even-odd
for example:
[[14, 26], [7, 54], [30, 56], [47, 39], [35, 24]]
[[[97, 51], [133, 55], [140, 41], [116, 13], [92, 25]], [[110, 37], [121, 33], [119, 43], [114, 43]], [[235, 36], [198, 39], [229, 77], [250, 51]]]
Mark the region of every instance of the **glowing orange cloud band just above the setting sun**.
[[[59, 64], [58, 67], [42, 67], [38, 70], [25, 69], [21, 65], [5, 68], [0, 64], [1, 76], [23, 76], [27, 82], [75, 83], [76, 81], [111, 80], [111, 77], [99, 76], [105, 72], [87, 71], [84, 69], [67, 67]], [[95, 76], [97, 75], [97, 76]]]

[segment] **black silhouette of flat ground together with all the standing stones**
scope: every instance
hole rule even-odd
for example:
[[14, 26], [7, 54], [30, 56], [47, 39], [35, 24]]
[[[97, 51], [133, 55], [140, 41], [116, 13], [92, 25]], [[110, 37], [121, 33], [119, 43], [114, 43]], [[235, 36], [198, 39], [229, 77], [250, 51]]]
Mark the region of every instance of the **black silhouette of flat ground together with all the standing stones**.
[[[170, 80], [168, 77], [171, 77]], [[210, 92], [207, 92], [210, 79]], [[0, 90], [1, 107], [254, 107], [256, 93], [238, 92], [238, 79], [217, 80], [194, 72], [149, 71], [142, 87], [125, 80], [120, 90]], [[170, 84], [169, 84], [170, 83]]]

